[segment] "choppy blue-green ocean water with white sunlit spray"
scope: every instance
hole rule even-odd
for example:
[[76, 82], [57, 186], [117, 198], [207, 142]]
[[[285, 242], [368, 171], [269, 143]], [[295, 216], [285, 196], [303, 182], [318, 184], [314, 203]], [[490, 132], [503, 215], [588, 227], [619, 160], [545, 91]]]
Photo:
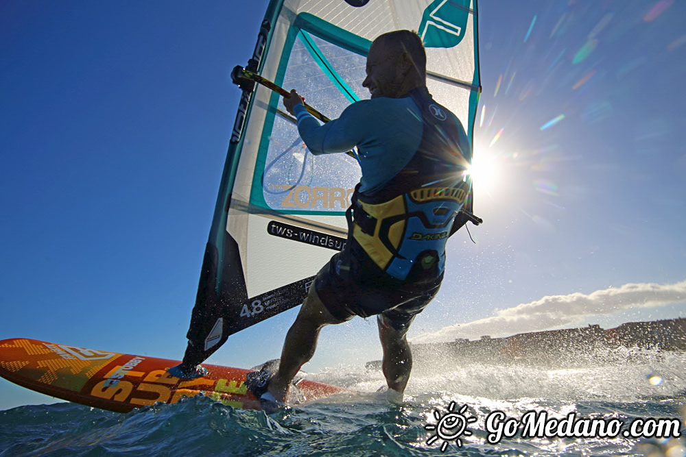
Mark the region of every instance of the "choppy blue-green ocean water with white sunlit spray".
[[272, 415], [200, 396], [128, 414], [72, 403], [21, 406], [0, 411], [0, 456], [686, 455], [683, 437], [522, 436], [519, 424], [491, 443], [497, 421], [486, 426], [495, 411], [512, 421], [536, 411], [619, 419], [624, 428], [635, 419], [679, 419], [684, 434], [684, 353], [635, 349], [558, 367], [420, 360], [403, 404], [376, 392], [384, 384], [378, 370], [338, 367], [308, 378], [356, 392]]

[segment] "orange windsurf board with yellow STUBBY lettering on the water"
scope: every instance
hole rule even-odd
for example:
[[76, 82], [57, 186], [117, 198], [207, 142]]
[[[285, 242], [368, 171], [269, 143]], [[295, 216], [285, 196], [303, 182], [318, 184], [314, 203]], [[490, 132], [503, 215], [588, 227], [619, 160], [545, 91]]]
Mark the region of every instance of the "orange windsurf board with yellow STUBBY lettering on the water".
[[[245, 386], [250, 370], [202, 364], [208, 374], [180, 380], [167, 373], [179, 363], [27, 338], [0, 341], [0, 376], [70, 402], [128, 412], [156, 402], [176, 403], [202, 392], [234, 408], [261, 409]], [[306, 402], [347, 391], [309, 380], [300, 380], [296, 386]]]

